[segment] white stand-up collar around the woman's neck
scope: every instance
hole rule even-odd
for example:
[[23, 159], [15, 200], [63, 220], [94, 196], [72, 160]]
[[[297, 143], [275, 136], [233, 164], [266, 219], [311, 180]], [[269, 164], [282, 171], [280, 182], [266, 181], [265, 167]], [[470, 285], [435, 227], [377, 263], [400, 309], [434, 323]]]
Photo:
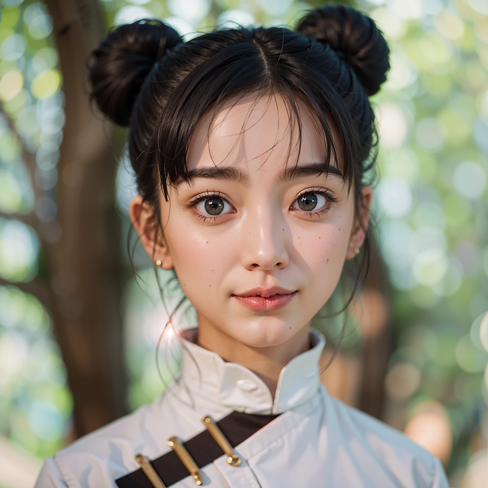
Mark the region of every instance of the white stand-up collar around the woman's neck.
[[226, 363], [217, 353], [186, 339], [180, 381], [193, 397], [203, 397], [222, 407], [244, 413], [283, 413], [307, 402], [319, 388], [319, 359], [325, 338], [311, 328], [310, 344], [310, 349], [281, 370], [274, 401], [269, 388], [251, 370]]

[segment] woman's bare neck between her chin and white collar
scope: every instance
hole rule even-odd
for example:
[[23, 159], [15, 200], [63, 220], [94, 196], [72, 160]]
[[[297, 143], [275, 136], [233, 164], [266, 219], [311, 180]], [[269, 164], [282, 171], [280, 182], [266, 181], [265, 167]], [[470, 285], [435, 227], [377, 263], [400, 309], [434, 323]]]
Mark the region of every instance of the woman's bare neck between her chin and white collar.
[[197, 344], [217, 353], [224, 361], [237, 363], [255, 373], [275, 396], [281, 370], [295, 357], [310, 349], [309, 325], [279, 346], [247, 346], [199, 315]]

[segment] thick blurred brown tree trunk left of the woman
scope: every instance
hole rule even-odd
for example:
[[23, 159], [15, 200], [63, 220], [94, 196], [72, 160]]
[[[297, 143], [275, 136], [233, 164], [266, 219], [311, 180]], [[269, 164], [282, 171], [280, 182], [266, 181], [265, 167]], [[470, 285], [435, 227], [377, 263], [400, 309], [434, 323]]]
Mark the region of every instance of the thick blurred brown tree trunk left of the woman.
[[125, 413], [122, 258], [111, 126], [89, 105], [87, 58], [103, 37], [97, 0], [45, 0], [66, 98], [56, 187], [62, 236], [44, 243], [55, 333], [74, 397], [77, 434]]

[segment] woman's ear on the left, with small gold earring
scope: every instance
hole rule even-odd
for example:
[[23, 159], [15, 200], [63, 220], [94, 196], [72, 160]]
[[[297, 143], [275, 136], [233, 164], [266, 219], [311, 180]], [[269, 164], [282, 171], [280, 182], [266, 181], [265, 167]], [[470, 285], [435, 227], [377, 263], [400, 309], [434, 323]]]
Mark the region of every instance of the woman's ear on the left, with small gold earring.
[[158, 227], [157, 216], [142, 196], [134, 197], [129, 205], [129, 217], [139, 235], [139, 240], [152, 261], [161, 261], [163, 269], [172, 269], [173, 260], [163, 232]]

